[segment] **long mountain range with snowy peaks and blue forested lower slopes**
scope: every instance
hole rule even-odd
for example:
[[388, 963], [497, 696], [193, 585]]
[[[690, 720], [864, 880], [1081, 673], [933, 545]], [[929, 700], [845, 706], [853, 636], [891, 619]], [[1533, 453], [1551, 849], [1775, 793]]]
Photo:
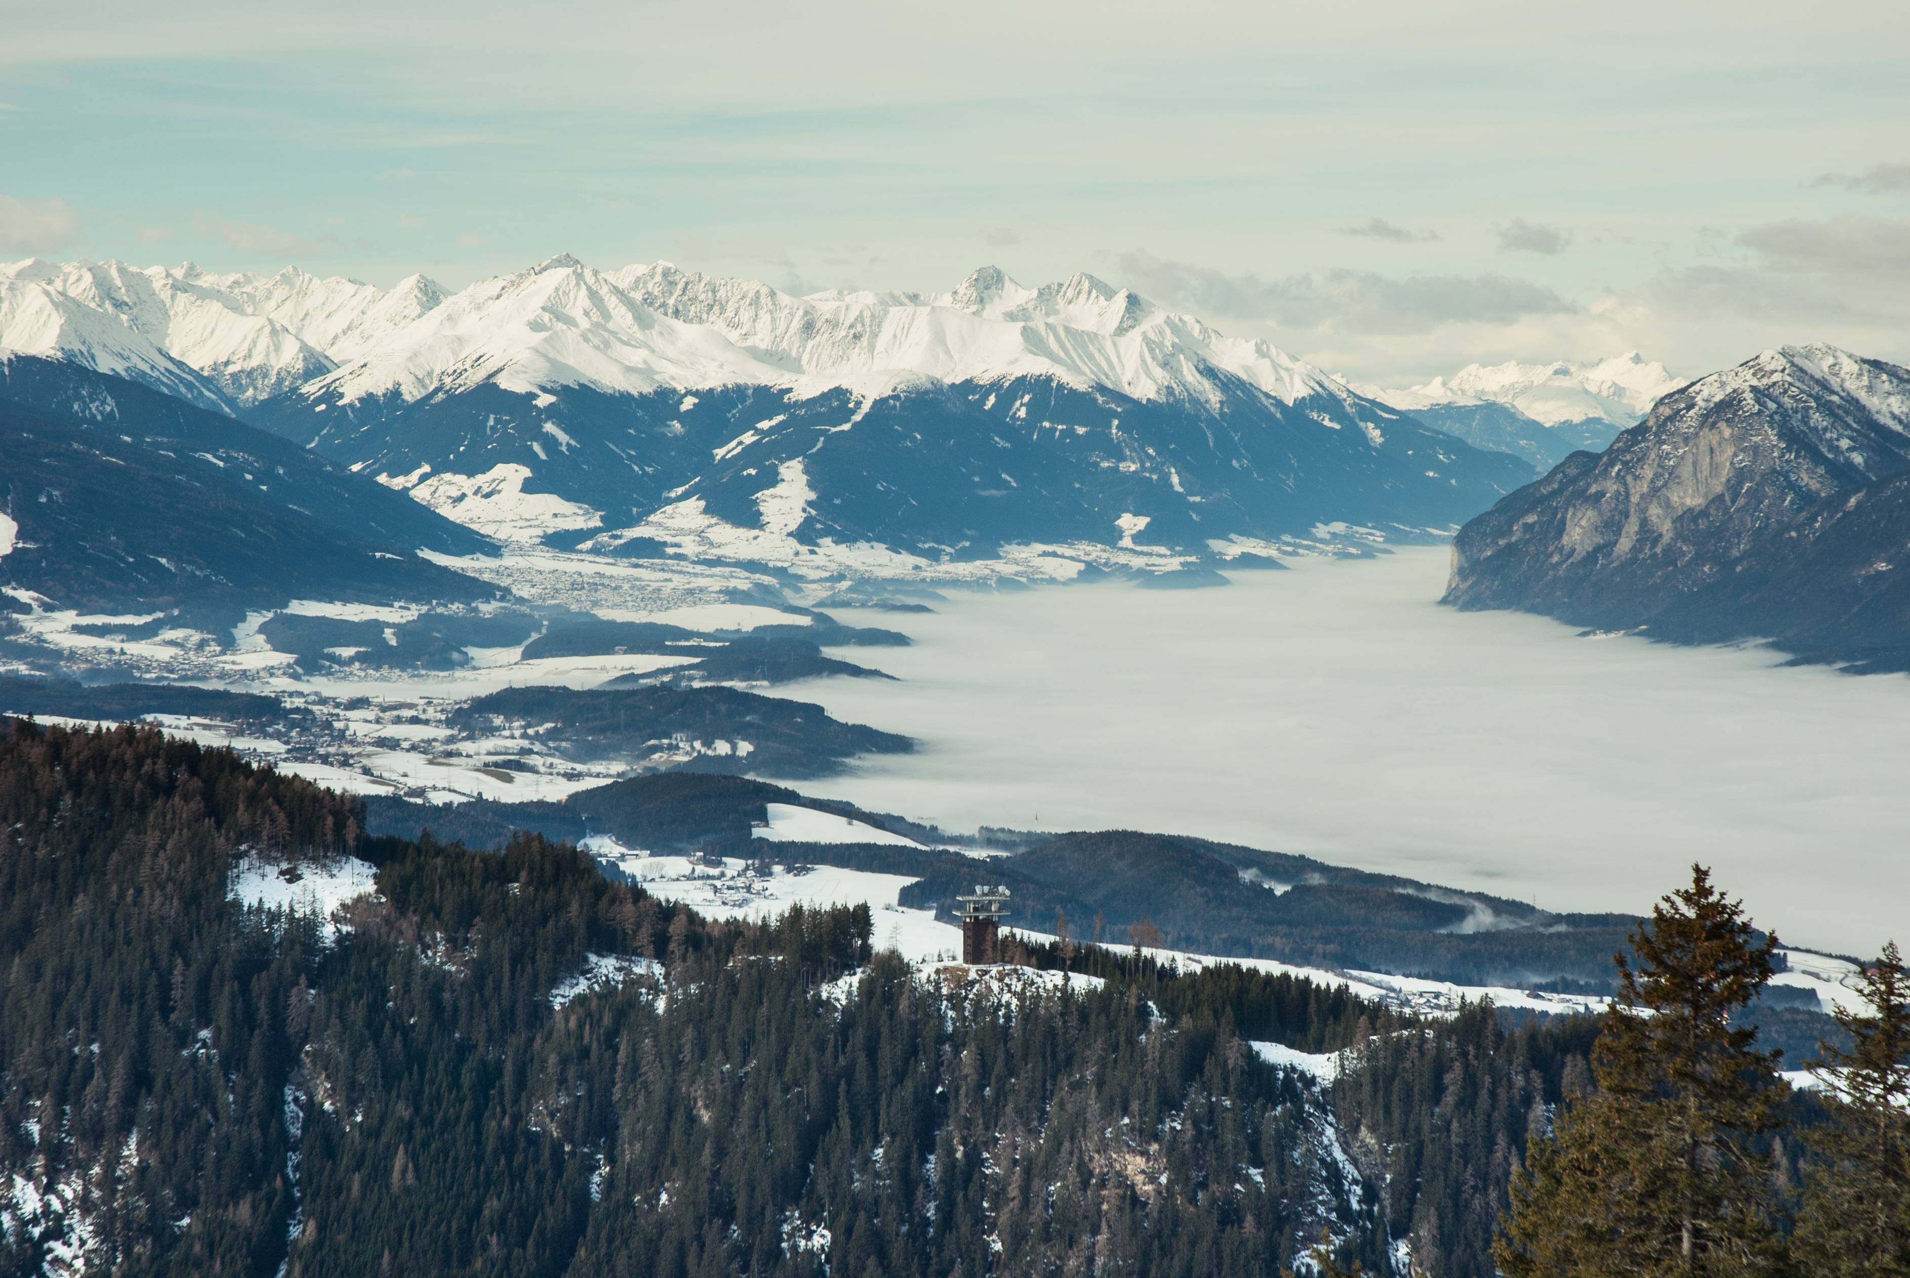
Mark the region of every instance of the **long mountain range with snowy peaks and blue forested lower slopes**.
[[223, 409], [487, 537], [625, 554], [1264, 554], [1316, 525], [1431, 537], [1530, 479], [1089, 275], [796, 298], [560, 256], [447, 294], [25, 262], [0, 346]]

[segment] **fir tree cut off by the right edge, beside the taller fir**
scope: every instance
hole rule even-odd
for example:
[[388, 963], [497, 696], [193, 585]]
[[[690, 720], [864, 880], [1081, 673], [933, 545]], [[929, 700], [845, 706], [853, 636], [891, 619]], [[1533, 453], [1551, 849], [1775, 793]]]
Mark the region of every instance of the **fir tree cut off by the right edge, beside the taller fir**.
[[1824, 1045], [1822, 1156], [1805, 1181], [1797, 1259], [1814, 1278], [1910, 1278], [1910, 974], [1897, 942], [1864, 972], [1870, 1014], [1839, 1007], [1847, 1051]]

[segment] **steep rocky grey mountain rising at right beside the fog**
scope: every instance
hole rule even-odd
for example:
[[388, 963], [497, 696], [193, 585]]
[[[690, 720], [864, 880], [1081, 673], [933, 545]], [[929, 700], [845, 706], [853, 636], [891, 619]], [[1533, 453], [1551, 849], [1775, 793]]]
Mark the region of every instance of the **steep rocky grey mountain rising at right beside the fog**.
[[1910, 508], [1879, 483], [1906, 470], [1910, 371], [1828, 346], [1765, 351], [1467, 523], [1446, 602], [1836, 651], [1857, 638], [1834, 623], [1857, 598], [1851, 573], [1910, 565], [1910, 522], [1891, 514]]

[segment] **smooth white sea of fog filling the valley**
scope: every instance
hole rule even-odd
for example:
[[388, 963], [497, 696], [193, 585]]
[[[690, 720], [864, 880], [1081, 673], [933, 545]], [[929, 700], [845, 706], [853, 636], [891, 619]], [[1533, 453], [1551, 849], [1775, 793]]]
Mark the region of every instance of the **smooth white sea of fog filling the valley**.
[[[905, 732], [806, 789], [951, 829], [1150, 829], [1643, 913], [1704, 862], [1795, 946], [1910, 944], [1910, 678], [1438, 607], [1446, 548], [949, 594], [783, 690]], [[844, 615], [848, 621], [850, 615]]]

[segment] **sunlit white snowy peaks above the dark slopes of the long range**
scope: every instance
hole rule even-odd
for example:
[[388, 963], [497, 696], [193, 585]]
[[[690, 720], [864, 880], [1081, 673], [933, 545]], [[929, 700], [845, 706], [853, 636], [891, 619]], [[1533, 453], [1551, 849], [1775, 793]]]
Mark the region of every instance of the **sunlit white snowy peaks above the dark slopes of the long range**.
[[1228, 338], [1093, 275], [1024, 288], [982, 267], [953, 292], [823, 292], [684, 273], [598, 271], [571, 256], [447, 294], [413, 275], [214, 275], [193, 264], [0, 266], [0, 346], [180, 384], [178, 365], [239, 405], [304, 388], [357, 401], [497, 382], [646, 394], [726, 384], [806, 390], [917, 374], [940, 382], [1058, 376], [1136, 399], [1217, 399], [1209, 369], [1285, 403], [1343, 395], [1266, 342]]

